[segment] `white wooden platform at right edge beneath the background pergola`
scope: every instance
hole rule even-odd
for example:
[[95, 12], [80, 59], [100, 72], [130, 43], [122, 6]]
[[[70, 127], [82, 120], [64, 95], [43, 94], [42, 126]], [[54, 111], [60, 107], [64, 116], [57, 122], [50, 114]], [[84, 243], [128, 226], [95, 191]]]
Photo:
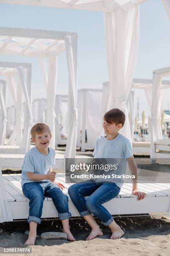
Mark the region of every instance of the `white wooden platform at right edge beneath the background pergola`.
[[156, 158], [170, 158], [170, 139], [155, 141]]

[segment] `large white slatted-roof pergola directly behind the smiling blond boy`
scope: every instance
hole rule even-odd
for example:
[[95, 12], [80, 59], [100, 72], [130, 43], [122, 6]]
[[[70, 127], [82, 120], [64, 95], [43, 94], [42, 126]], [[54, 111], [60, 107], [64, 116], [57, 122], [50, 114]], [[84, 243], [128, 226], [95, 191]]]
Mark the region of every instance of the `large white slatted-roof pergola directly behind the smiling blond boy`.
[[[77, 33], [23, 28], [0, 28], [0, 54], [33, 56], [37, 57], [40, 61], [44, 84], [47, 88], [46, 123], [50, 126], [52, 132], [50, 142], [52, 148], [55, 148], [54, 106], [57, 82], [57, 56], [63, 51], [66, 51], [69, 74], [69, 134], [65, 157], [70, 158], [75, 157], [77, 133]], [[46, 67], [47, 61], [48, 72]], [[18, 69], [18, 71], [21, 76], [22, 69]], [[22, 82], [24, 83], [24, 81]], [[30, 120], [32, 120], [32, 115], [30, 115]], [[28, 119], [28, 123], [30, 123], [30, 120]]]

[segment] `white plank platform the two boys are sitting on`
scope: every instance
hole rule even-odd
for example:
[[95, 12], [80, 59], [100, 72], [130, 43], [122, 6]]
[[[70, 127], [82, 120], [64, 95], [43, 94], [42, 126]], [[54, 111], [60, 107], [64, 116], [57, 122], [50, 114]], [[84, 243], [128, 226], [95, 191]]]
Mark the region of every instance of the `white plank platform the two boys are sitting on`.
[[[27, 219], [29, 212], [29, 200], [23, 195], [20, 181], [21, 174], [3, 174], [4, 184], [7, 192], [7, 200], [13, 215], [13, 220]], [[57, 181], [62, 182], [66, 189], [63, 190], [69, 197], [67, 189], [71, 184], [65, 183], [65, 174], [57, 174]], [[147, 193], [147, 196], [138, 201], [135, 195], [132, 195], [132, 185], [126, 183], [123, 185], [120, 194], [105, 203], [105, 207], [112, 215], [117, 214], [138, 214], [150, 212], [169, 212], [170, 208], [170, 183], [145, 183], [138, 184], [138, 189]], [[69, 197], [69, 211], [73, 216], [80, 216]], [[58, 217], [57, 210], [51, 198], [45, 198], [41, 218]]]

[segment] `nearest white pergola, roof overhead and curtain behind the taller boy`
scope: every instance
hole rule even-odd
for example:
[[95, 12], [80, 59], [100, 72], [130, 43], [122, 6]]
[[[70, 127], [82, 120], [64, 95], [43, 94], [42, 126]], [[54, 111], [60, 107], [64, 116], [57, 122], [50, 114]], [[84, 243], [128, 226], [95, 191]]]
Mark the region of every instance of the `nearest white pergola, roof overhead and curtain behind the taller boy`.
[[[107, 64], [110, 81], [105, 110], [120, 108], [126, 115], [122, 134], [131, 141], [126, 100], [138, 57], [139, 5], [146, 0], [0, 0], [0, 3], [95, 10], [105, 13]], [[170, 15], [169, 0], [163, 0]], [[169, 16], [170, 17], [170, 16]]]

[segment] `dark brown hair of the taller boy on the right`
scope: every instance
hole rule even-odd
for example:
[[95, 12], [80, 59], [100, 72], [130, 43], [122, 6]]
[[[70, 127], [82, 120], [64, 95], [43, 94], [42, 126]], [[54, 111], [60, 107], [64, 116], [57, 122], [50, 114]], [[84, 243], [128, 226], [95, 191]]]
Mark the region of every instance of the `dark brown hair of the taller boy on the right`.
[[113, 108], [105, 113], [104, 120], [110, 124], [115, 123], [118, 125], [121, 123], [123, 127], [125, 123], [125, 113], [118, 108]]

